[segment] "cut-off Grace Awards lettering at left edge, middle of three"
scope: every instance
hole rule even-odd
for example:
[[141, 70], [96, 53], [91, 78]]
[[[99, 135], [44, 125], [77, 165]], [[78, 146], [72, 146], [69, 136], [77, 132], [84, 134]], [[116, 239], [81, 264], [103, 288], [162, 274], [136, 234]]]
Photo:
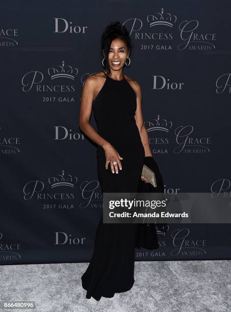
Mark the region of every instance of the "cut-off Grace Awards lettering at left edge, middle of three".
[[18, 154], [20, 146], [20, 138], [15, 136], [2, 135], [2, 128], [0, 127], [0, 154], [12, 155]]

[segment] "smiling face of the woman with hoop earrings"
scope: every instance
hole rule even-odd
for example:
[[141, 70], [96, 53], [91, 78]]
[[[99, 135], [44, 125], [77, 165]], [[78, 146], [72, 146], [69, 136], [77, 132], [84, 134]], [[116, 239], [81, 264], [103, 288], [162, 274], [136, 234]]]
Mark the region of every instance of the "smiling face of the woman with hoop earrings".
[[109, 50], [109, 65], [112, 70], [119, 70], [123, 68], [126, 59], [129, 57], [129, 51], [125, 42], [119, 38], [112, 41]]

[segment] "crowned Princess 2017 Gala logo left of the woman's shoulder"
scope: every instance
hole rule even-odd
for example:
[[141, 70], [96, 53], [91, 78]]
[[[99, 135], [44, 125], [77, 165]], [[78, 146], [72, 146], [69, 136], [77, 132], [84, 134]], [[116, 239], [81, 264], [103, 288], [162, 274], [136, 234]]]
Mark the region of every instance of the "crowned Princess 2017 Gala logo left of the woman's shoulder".
[[78, 69], [65, 65], [64, 61], [62, 65], [49, 67], [45, 73], [32, 70], [22, 77], [22, 91], [27, 93], [33, 90], [42, 94], [42, 102], [74, 102], [71, 94], [75, 92], [73, 83], [77, 74]]

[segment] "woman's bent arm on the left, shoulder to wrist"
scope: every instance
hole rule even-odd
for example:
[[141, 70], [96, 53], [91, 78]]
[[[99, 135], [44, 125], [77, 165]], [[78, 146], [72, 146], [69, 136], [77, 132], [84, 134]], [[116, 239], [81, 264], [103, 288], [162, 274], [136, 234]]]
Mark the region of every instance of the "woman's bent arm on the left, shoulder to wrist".
[[102, 138], [89, 123], [92, 112], [94, 90], [97, 83], [96, 80], [97, 77], [94, 77], [92, 75], [87, 77], [84, 82], [80, 102], [79, 128], [93, 142], [105, 148], [109, 144], [109, 142]]

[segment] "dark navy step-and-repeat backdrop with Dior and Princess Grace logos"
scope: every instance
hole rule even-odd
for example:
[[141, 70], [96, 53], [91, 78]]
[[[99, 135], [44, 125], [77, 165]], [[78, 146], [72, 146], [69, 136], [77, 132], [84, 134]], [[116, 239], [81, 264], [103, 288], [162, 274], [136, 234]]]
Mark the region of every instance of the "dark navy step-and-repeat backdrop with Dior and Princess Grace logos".
[[[141, 85], [166, 194], [231, 201], [229, 1], [11, 1], [1, 9], [0, 264], [90, 261], [102, 193], [96, 146], [78, 118], [113, 21], [131, 37], [124, 72]], [[97, 129], [93, 112], [90, 122]], [[228, 223], [169, 224], [159, 248], [135, 249], [135, 259], [230, 259], [230, 237]]]

